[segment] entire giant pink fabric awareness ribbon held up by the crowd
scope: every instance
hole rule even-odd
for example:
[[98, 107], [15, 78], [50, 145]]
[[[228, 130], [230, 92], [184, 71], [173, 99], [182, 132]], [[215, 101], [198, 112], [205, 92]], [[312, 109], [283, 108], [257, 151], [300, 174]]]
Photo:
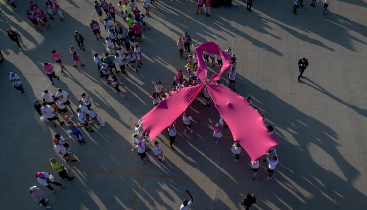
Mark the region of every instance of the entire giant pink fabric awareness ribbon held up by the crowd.
[[[208, 82], [206, 82], [207, 69], [203, 51], [219, 54], [223, 60], [220, 72], [214, 74]], [[198, 61], [197, 76], [204, 84], [186, 87], [169, 94], [150, 112], [141, 117], [144, 131], [149, 134], [150, 141], [153, 141], [161, 131], [170, 126], [206, 86], [215, 107], [229, 126], [234, 140], [246, 150], [252, 161], [266, 154], [271, 147], [278, 145], [279, 142], [268, 132], [260, 114], [242, 96], [227, 87], [210, 84], [218, 80], [221, 74], [229, 69], [230, 56], [225, 55], [214, 42], [206, 42], [197, 46], [195, 53]]]

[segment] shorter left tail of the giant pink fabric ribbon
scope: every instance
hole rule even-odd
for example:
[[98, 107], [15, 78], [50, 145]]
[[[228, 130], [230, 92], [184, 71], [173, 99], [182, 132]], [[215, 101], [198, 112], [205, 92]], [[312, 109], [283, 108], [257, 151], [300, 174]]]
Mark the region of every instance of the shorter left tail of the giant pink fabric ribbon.
[[153, 141], [187, 109], [203, 87], [204, 84], [179, 89], [169, 94], [150, 112], [141, 117], [144, 131], [150, 136], [150, 141]]

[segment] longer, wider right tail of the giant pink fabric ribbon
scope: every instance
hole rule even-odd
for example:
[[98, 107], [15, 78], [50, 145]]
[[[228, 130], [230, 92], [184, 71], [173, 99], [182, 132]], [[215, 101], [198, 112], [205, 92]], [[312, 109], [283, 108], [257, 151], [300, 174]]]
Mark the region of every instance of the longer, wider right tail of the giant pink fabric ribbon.
[[280, 144], [268, 131], [258, 111], [246, 99], [221, 85], [208, 84], [206, 87], [215, 107], [229, 126], [234, 141], [239, 142], [252, 161]]

